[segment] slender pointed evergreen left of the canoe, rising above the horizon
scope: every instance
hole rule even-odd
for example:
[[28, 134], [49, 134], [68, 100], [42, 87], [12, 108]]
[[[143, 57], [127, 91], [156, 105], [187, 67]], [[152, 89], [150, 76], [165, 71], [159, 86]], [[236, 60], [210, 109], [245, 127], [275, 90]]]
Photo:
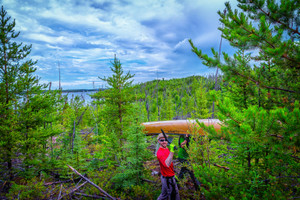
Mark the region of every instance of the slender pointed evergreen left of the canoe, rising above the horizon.
[[107, 122], [108, 136], [110, 133], [116, 134], [117, 138], [111, 138], [113, 142], [117, 142], [115, 148], [118, 153], [122, 153], [121, 147], [124, 144], [126, 135], [124, 136], [124, 129], [128, 127], [128, 119], [132, 102], [134, 102], [134, 93], [132, 91], [131, 78], [134, 75], [127, 72], [123, 74], [121, 62], [114, 58], [110, 68], [113, 72], [111, 77], [104, 77], [101, 80], [105, 81], [110, 88], [108, 90], [100, 91], [93, 97], [98, 99], [98, 104], [104, 105], [104, 115]]

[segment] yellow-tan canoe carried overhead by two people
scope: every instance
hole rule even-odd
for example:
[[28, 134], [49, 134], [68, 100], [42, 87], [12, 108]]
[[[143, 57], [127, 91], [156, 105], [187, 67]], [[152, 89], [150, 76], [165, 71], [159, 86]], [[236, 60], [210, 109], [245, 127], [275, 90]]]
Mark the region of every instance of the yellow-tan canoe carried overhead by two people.
[[[220, 120], [218, 119], [198, 119], [199, 122], [203, 122], [206, 126], [213, 125], [214, 128], [219, 131]], [[198, 129], [197, 132], [200, 135], [204, 135], [203, 130], [199, 128], [196, 120], [170, 120], [170, 121], [154, 121], [142, 123], [144, 133], [146, 135], [157, 135], [161, 133], [161, 129], [166, 134], [170, 135], [183, 135], [192, 133], [193, 129]]]

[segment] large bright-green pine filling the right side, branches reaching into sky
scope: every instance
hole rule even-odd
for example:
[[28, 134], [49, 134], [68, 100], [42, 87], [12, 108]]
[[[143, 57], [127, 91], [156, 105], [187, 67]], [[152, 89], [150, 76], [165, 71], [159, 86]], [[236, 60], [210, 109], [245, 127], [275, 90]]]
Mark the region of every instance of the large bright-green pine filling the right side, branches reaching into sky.
[[190, 40], [192, 51], [205, 65], [218, 66], [228, 83], [223, 94], [213, 92], [222, 132], [202, 127], [220, 144], [228, 142], [232, 151], [222, 157], [230, 170], [203, 170], [212, 176], [205, 180], [211, 186], [205, 193], [210, 198], [293, 198], [299, 196], [300, 3], [238, 2], [241, 11], [225, 3], [227, 13], [219, 12], [222, 37], [237, 53], [223, 52], [220, 60], [213, 49], [211, 58]]

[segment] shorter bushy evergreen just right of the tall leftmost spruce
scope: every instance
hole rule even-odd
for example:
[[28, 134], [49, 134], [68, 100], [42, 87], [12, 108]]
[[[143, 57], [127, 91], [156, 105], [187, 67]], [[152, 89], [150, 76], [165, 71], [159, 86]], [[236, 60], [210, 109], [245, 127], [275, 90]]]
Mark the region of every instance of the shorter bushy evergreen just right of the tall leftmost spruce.
[[[32, 79], [34, 80], [34, 79]], [[30, 84], [28, 84], [29, 86]], [[16, 135], [19, 142], [16, 151], [20, 154], [22, 166], [26, 176], [35, 176], [44, 168], [48, 168], [46, 161], [49, 139], [60, 133], [57, 126], [59, 104], [57, 92], [42, 92], [42, 86], [35, 83], [27, 88], [24, 99], [18, 104], [18, 127]]]

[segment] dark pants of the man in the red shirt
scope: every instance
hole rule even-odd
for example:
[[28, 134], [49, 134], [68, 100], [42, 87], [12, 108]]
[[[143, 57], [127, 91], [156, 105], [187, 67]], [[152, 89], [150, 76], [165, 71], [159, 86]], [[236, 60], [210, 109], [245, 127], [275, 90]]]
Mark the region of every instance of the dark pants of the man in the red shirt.
[[161, 179], [161, 194], [157, 200], [180, 200], [178, 187], [175, 177], [160, 177]]

